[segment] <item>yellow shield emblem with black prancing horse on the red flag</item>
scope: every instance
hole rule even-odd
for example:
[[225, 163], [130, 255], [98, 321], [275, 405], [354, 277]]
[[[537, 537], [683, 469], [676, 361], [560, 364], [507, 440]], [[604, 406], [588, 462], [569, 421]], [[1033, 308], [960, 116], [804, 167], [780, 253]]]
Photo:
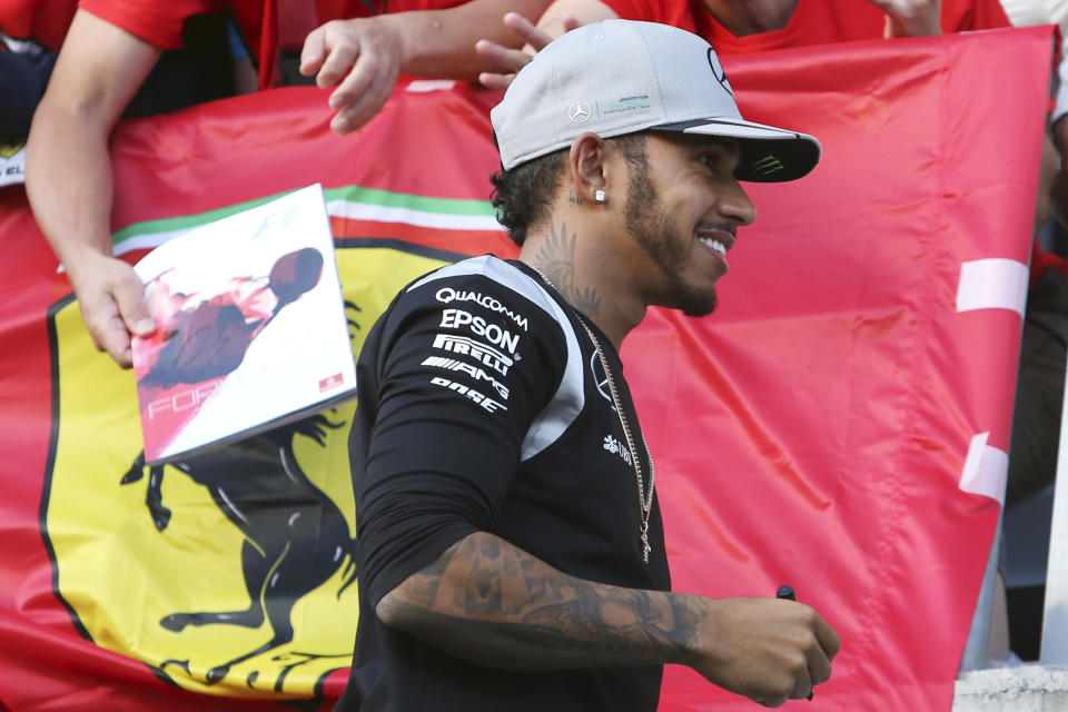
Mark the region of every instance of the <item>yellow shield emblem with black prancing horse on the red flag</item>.
[[[335, 246], [354, 352], [358, 323], [456, 258], [405, 243], [355, 249], [337, 235]], [[96, 355], [73, 295], [49, 319], [62, 416], [41, 537], [71, 624], [159, 680], [212, 695], [204, 709], [219, 708], [216, 695], [319, 709], [326, 681], [352, 664], [358, 622], [346, 437], [356, 404], [146, 467], [129, 374]]]

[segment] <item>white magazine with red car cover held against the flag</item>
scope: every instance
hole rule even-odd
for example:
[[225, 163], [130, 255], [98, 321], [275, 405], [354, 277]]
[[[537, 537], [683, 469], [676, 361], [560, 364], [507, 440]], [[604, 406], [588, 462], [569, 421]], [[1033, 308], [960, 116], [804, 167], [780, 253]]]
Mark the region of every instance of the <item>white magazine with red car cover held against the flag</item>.
[[355, 395], [320, 186], [185, 233], [135, 269], [156, 322], [132, 346], [146, 463], [187, 457]]

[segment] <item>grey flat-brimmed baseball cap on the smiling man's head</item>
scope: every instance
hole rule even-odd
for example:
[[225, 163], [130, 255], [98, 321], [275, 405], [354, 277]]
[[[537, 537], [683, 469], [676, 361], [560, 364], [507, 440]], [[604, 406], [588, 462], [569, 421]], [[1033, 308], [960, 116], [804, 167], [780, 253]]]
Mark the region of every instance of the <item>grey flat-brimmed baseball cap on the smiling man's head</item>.
[[746, 121], [712, 47], [668, 24], [605, 20], [551, 42], [490, 112], [501, 165], [567, 148], [581, 134], [612, 138], [681, 131], [739, 139], [739, 180], [778, 182], [820, 160], [805, 134]]

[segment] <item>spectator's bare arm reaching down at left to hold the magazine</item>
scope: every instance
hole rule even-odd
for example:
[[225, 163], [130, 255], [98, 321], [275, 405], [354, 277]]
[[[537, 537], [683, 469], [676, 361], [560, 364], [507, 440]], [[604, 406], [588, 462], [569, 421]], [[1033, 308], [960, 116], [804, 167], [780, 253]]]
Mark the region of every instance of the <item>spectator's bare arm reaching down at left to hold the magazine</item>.
[[111, 256], [111, 159], [119, 116], [161, 50], [79, 10], [33, 116], [26, 188], [78, 295], [92, 342], [129, 367], [130, 334], [151, 334], [141, 281]]

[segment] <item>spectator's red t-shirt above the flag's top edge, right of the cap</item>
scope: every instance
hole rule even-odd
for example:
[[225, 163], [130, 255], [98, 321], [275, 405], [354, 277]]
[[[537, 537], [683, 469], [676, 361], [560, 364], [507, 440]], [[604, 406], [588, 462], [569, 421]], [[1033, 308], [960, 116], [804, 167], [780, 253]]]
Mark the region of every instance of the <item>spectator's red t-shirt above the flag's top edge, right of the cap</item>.
[[[602, 0], [625, 20], [673, 24], [700, 34], [721, 55], [788, 47], [879, 39], [886, 14], [868, 0], [798, 0], [781, 30], [736, 37], [720, 24], [702, 0]], [[1009, 27], [998, 0], [943, 0], [942, 31]]]

